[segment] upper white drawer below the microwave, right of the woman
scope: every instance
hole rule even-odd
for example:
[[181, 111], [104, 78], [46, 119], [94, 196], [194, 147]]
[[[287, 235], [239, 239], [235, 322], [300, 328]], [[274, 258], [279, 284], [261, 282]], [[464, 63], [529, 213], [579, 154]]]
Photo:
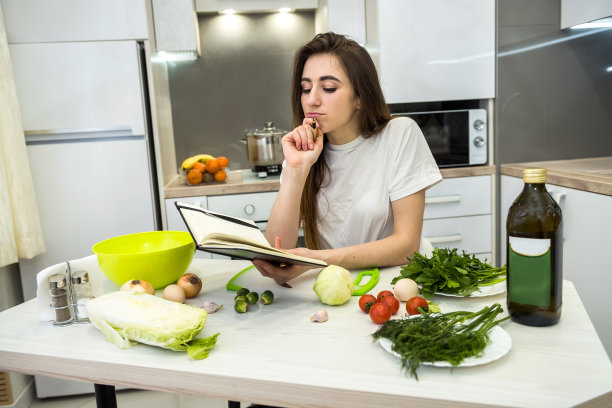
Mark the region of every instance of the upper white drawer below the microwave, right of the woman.
[[491, 176], [445, 179], [425, 194], [425, 220], [480, 214], [491, 214]]

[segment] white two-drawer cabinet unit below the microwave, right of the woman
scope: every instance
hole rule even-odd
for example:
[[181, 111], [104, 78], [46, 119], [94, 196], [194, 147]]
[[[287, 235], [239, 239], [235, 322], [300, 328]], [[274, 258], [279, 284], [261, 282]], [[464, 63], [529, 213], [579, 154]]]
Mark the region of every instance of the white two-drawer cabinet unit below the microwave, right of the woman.
[[434, 247], [457, 248], [494, 264], [493, 176], [442, 180], [427, 190], [421, 235]]

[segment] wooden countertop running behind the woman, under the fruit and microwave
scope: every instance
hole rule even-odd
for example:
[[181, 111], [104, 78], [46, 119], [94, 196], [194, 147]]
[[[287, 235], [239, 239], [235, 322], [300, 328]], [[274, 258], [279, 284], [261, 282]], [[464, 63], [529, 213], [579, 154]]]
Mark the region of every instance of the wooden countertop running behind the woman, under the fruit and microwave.
[[[467, 177], [495, 174], [495, 166], [472, 166], [445, 168], [440, 170], [442, 177]], [[263, 191], [278, 191], [279, 176], [260, 179], [250, 170], [232, 170], [226, 182], [187, 185], [185, 180], [177, 175], [164, 188], [165, 198], [182, 198], [194, 196], [212, 196], [224, 194], [258, 193]]]

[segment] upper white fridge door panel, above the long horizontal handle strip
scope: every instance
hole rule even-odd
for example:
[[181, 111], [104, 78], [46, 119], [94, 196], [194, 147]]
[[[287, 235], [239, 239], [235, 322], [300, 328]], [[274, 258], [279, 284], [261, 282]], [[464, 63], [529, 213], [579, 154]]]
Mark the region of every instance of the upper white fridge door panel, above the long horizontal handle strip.
[[144, 135], [134, 41], [9, 46], [26, 132]]

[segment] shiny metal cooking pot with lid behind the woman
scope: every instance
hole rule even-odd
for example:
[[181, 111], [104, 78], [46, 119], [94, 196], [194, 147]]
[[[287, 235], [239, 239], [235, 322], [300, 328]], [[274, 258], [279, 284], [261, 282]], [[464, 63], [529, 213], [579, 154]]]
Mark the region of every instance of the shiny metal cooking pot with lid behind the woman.
[[262, 129], [247, 129], [242, 142], [247, 145], [249, 163], [254, 172], [279, 174], [283, 164], [281, 138], [286, 130], [277, 129], [273, 122], [265, 122]]

